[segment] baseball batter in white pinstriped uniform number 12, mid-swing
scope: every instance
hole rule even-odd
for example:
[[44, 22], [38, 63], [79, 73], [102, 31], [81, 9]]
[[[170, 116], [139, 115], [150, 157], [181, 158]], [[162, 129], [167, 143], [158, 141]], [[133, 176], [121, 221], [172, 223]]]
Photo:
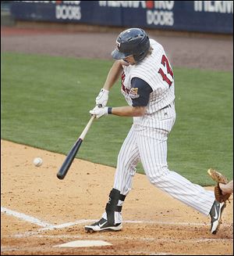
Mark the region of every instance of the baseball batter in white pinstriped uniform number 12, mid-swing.
[[[154, 186], [204, 215], [211, 215], [211, 233], [215, 234], [225, 202], [218, 202], [214, 192], [168, 169], [167, 139], [176, 120], [176, 110], [174, 74], [165, 50], [148, 38], [144, 30], [130, 28], [119, 34], [112, 57], [116, 61], [96, 98], [97, 106], [90, 114], [96, 118], [108, 114], [133, 117], [133, 126], [119, 151], [115, 181], [105, 212], [98, 222], [86, 225], [85, 230], [122, 229], [122, 204], [141, 161]], [[106, 106], [108, 93], [119, 78], [128, 106]], [[98, 107], [100, 104], [102, 107]]]

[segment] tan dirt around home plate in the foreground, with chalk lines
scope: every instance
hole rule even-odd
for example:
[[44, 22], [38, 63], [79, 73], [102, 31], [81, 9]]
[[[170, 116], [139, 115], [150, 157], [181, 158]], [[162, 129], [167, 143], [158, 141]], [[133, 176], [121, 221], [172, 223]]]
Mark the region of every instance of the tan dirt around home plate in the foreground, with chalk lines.
[[[101, 217], [115, 169], [76, 159], [61, 181], [56, 173], [63, 155], [3, 140], [1, 146], [2, 255], [231, 255], [233, 252], [233, 198], [224, 211], [218, 234], [211, 235], [210, 218], [161, 193], [145, 175], [137, 174], [123, 207], [122, 231], [88, 234], [83, 226]], [[34, 157], [44, 160], [40, 168], [34, 167]], [[54, 247], [74, 240], [104, 240], [112, 245]]]

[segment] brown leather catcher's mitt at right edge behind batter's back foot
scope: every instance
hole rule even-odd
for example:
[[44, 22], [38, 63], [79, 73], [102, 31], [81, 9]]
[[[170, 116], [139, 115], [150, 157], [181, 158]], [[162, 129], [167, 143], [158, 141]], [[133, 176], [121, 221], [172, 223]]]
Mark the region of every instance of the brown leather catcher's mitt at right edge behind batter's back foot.
[[229, 200], [229, 197], [231, 196], [231, 194], [222, 194], [222, 190], [219, 187], [219, 183], [223, 183], [223, 184], [227, 184], [229, 181], [228, 179], [225, 177], [225, 175], [222, 175], [221, 173], [219, 173], [218, 171], [215, 171], [214, 169], [210, 168], [207, 171], [208, 175], [211, 176], [211, 178], [217, 182], [217, 186], [215, 186], [215, 199], [218, 200], [218, 202], [222, 203], [225, 202], [226, 200]]

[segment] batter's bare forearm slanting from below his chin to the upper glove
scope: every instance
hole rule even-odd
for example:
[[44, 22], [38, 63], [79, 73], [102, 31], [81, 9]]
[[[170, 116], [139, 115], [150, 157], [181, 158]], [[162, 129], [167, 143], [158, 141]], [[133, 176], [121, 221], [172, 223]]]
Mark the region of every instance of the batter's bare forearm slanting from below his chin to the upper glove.
[[118, 81], [121, 74], [122, 74], [122, 65], [117, 60], [115, 61], [111, 70], [109, 71], [103, 88], [109, 91], [110, 88], [112, 88], [112, 86], [115, 85], [115, 82]]

